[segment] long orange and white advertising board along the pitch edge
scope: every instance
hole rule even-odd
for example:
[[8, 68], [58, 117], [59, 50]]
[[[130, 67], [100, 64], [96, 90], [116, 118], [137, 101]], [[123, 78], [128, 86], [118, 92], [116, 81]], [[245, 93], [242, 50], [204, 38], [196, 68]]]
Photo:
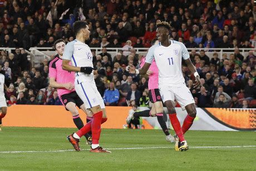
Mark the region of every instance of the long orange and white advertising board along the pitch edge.
[[[123, 129], [130, 109], [130, 107], [106, 107], [108, 120], [102, 128]], [[196, 108], [196, 110], [197, 115], [191, 130], [256, 130], [256, 109]], [[79, 110], [79, 113], [81, 119], [85, 121], [86, 115], [82, 110]], [[165, 113], [167, 113], [166, 108]], [[186, 111], [176, 108], [176, 113], [183, 124]], [[156, 117], [142, 118], [142, 128], [160, 129]], [[168, 115], [165, 115], [165, 121], [171, 128]], [[12, 105], [8, 107], [3, 125], [6, 127], [75, 128], [71, 113], [57, 105]]]

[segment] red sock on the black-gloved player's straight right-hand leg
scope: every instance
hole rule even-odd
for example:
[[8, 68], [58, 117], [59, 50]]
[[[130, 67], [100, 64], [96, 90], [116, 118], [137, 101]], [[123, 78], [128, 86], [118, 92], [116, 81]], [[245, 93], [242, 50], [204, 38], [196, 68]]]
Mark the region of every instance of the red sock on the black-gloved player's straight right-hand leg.
[[93, 114], [92, 117], [92, 144], [99, 144], [101, 133], [101, 119], [103, 112]]

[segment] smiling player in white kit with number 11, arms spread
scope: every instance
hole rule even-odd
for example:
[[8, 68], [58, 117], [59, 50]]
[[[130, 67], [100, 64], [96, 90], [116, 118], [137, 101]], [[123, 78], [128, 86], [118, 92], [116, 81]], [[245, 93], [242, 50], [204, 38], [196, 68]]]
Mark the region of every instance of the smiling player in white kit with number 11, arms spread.
[[[184, 138], [185, 132], [193, 124], [196, 117], [195, 101], [186, 87], [183, 74], [181, 72], [181, 61], [184, 59], [188, 68], [195, 76], [196, 88], [200, 87], [200, 77], [196, 72], [195, 66], [191, 63], [188, 49], [183, 43], [177, 41], [170, 41], [168, 36], [171, 26], [167, 22], [159, 22], [156, 24], [156, 37], [159, 41], [149, 49], [146, 55], [146, 62], [144, 66], [138, 70], [134, 66], [129, 67], [130, 73], [146, 74], [153, 59], [159, 68], [159, 90], [165, 106], [168, 109], [171, 125], [175, 130], [174, 136], [175, 150], [188, 150], [188, 144]], [[181, 128], [179, 120], [176, 116], [174, 100], [177, 100], [181, 107], [186, 109], [188, 115], [186, 116], [183, 126]]]

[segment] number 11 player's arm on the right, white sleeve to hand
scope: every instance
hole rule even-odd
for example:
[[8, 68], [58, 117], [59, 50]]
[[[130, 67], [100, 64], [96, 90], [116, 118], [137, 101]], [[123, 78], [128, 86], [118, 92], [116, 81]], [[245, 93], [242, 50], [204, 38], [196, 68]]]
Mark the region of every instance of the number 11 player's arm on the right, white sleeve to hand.
[[200, 76], [199, 76], [198, 72], [196, 71], [195, 66], [193, 65], [193, 63], [191, 62], [191, 60], [189, 58], [188, 49], [185, 47], [185, 45], [183, 43], [181, 43], [181, 53], [182, 53], [182, 57], [183, 57], [185, 63], [187, 64], [189, 70], [195, 76], [194, 88], [199, 89], [200, 88]]

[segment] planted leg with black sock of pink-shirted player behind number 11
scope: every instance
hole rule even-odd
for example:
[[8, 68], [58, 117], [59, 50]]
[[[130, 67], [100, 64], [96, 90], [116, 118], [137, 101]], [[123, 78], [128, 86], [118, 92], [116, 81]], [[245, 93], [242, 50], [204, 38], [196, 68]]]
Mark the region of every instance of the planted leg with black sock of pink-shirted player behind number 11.
[[163, 103], [162, 102], [155, 102], [154, 103], [155, 110], [156, 110], [156, 117], [157, 121], [160, 124], [161, 128], [163, 129], [164, 134], [166, 135], [166, 140], [168, 142], [175, 142], [174, 137], [169, 133], [169, 130], [166, 126], [164, 121], [164, 110], [163, 110]]

